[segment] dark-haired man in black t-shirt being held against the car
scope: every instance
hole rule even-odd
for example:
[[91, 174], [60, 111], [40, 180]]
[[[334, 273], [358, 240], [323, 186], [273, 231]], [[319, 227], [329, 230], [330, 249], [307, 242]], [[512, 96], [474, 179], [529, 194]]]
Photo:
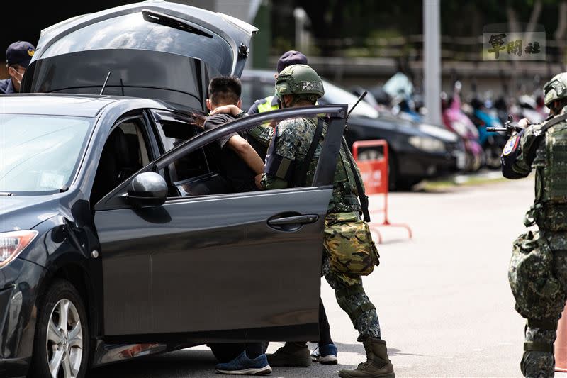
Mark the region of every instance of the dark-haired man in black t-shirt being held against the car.
[[[207, 108], [210, 111], [219, 106], [240, 107], [242, 85], [236, 77], [215, 77], [208, 85]], [[234, 121], [238, 116], [218, 113], [208, 116], [205, 130], [218, 128]], [[228, 180], [232, 191], [254, 191], [254, 177], [264, 172], [264, 162], [246, 140], [245, 133], [232, 133], [217, 141], [220, 147], [220, 173]]]

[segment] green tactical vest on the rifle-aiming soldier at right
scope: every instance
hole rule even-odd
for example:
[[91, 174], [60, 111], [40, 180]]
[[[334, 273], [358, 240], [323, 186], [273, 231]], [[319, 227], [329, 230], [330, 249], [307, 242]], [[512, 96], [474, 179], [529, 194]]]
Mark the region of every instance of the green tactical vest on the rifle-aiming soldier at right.
[[536, 171], [535, 221], [541, 230], [567, 231], [567, 122], [545, 131], [532, 168]]

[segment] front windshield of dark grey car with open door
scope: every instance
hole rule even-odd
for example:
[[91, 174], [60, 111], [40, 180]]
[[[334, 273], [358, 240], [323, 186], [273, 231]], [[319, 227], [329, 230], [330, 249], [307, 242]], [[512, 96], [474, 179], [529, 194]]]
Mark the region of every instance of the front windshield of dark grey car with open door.
[[68, 186], [94, 118], [0, 116], [0, 192], [47, 194]]

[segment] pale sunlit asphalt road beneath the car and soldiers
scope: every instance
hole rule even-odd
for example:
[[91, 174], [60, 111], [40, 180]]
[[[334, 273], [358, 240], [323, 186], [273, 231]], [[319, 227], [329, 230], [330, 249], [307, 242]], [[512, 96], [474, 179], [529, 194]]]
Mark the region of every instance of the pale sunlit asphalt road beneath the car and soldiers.
[[[524, 179], [391, 194], [390, 221], [408, 223], [413, 238], [381, 228], [381, 265], [364, 287], [378, 308], [397, 377], [521, 377], [524, 321], [514, 310], [507, 265], [512, 241], [524, 231], [532, 185]], [[336, 377], [364, 359], [325, 281], [322, 298], [340, 365], [276, 368], [272, 377]], [[269, 351], [279, 345], [271, 343]], [[89, 377], [219, 377], [214, 364], [210, 351], [197, 347], [94, 369]]]

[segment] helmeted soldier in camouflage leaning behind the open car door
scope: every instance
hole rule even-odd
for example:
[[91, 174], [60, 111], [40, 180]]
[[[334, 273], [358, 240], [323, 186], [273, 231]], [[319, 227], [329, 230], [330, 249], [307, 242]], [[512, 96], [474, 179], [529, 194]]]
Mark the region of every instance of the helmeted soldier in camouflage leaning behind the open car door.
[[[310, 106], [324, 93], [318, 74], [307, 65], [291, 65], [279, 73], [276, 93], [283, 107]], [[281, 121], [274, 131], [266, 169], [261, 179], [263, 189], [281, 189], [292, 186], [308, 186], [313, 182], [315, 167], [322, 148], [319, 140], [313, 159], [308, 164], [303, 182], [294, 182], [296, 170], [305, 163], [305, 157], [315, 135], [319, 118], [293, 118]], [[322, 137], [325, 138], [327, 124], [323, 122]], [[265, 133], [265, 131], [264, 131]], [[369, 274], [378, 265], [378, 252], [371, 240], [368, 226], [360, 220], [361, 206], [354, 175], [360, 173], [352, 155], [341, 147], [337, 159], [337, 170], [333, 183], [332, 199], [325, 219], [325, 252], [323, 274], [335, 289], [339, 306], [349, 315], [359, 331], [358, 341], [364, 343], [367, 361], [357, 369], [342, 370], [339, 377], [393, 378], [393, 366], [388, 359], [386, 341], [381, 339], [380, 324], [376, 308], [362, 287], [361, 274]], [[354, 171], [351, 167], [354, 167]], [[269, 362], [274, 366], [280, 360], [301, 348], [297, 343], [286, 343]]]

